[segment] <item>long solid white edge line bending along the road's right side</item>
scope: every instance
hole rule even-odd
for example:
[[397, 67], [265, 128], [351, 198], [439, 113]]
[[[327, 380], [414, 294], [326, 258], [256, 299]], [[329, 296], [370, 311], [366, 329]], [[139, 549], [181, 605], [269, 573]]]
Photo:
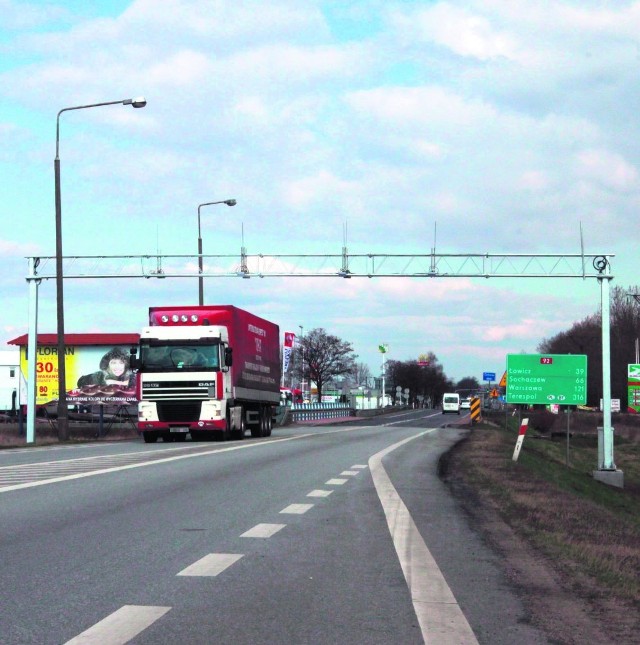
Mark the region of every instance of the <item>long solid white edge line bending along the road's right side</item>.
[[475, 634], [449, 589], [440, 567], [382, 465], [385, 455], [434, 430], [435, 428], [426, 430], [376, 453], [369, 459], [369, 469], [425, 643], [477, 644]]

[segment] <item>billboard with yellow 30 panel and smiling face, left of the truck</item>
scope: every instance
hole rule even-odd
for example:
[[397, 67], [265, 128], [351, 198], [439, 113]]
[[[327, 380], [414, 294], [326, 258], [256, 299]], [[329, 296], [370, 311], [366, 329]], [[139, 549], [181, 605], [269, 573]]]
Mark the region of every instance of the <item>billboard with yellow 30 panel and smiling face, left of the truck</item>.
[[[129, 346], [67, 345], [65, 349], [69, 405], [136, 401], [135, 374], [129, 367]], [[36, 405], [44, 405], [58, 399], [57, 347], [38, 346], [36, 360]], [[26, 383], [26, 346], [20, 347], [20, 371]]]

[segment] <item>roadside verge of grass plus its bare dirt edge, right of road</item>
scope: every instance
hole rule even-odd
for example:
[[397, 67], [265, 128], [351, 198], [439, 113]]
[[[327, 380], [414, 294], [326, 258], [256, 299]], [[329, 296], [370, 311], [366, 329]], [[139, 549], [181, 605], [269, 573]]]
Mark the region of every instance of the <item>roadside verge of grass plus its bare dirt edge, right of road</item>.
[[[443, 476], [491, 540], [499, 517], [514, 538], [531, 548], [550, 567], [566, 598], [581, 603], [581, 611], [606, 625], [618, 642], [637, 638], [640, 628], [640, 440], [616, 437], [615, 461], [624, 471], [625, 488], [597, 482], [595, 433], [574, 434], [569, 465], [564, 437], [550, 438], [529, 430], [517, 463], [512, 461], [517, 420], [502, 418], [502, 427], [473, 426], [469, 437], [443, 463]], [[505, 422], [509, 427], [505, 428]], [[493, 518], [493, 519], [491, 519]], [[502, 540], [505, 555], [521, 551], [514, 539]], [[521, 572], [522, 573], [522, 572]], [[524, 572], [526, 578], [526, 572]], [[523, 579], [524, 579], [523, 578]], [[531, 582], [532, 593], [541, 592]], [[531, 591], [531, 590], [530, 590]], [[540, 600], [540, 599], [538, 599]], [[562, 605], [566, 614], [566, 603]], [[554, 602], [532, 603], [552, 612]], [[558, 618], [550, 622], [562, 631]], [[588, 632], [588, 629], [587, 629]], [[588, 633], [587, 633], [588, 635]], [[558, 642], [574, 642], [558, 637]], [[628, 642], [637, 642], [629, 640]]]

